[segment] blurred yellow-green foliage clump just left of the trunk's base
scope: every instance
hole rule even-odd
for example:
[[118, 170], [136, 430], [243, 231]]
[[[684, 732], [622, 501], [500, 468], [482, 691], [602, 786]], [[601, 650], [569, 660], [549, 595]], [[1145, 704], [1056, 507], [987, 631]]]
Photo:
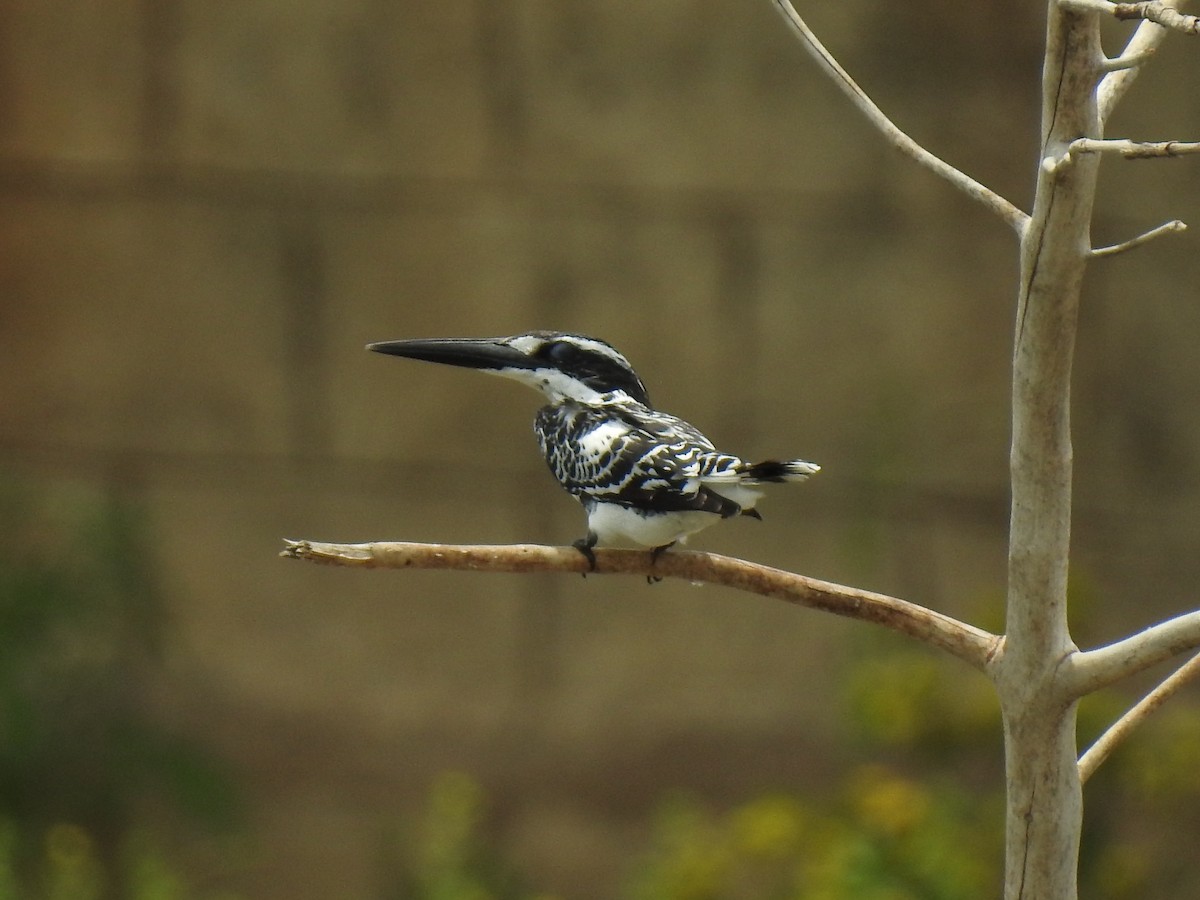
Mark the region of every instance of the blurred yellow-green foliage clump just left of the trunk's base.
[[[1003, 796], [973, 791], [970, 746], [998, 745], [983, 678], [890, 636], [870, 637], [846, 673], [853, 763], [827, 796], [768, 794], [724, 814], [674, 799], [634, 881], [634, 900], [968, 900], [998, 894]], [[920, 760], [924, 770], [880, 763]], [[952, 772], [947, 772], [947, 767]], [[998, 778], [994, 781], [998, 784]]]

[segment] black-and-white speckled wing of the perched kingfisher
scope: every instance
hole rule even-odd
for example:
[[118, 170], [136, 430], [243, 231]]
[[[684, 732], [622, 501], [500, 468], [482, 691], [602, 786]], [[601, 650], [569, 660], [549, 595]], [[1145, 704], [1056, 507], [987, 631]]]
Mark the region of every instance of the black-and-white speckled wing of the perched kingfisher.
[[742, 461], [718, 452], [676, 416], [646, 407], [564, 403], [544, 407], [534, 431], [554, 478], [581, 500], [722, 517], [740, 510], [702, 481], [732, 475]]

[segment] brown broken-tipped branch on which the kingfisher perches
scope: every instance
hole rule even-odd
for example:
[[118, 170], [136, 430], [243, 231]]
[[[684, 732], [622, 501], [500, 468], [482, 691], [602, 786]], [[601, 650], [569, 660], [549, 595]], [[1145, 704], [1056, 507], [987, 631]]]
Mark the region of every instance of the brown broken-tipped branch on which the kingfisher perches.
[[[319, 544], [284, 541], [280, 553], [332, 565], [365, 569], [457, 569], [491, 572], [587, 572], [587, 560], [574, 547], [538, 544], [451, 545], [402, 541], [373, 544]], [[1000, 638], [924, 606], [886, 594], [833, 584], [743, 559], [672, 551], [653, 560], [636, 550], [596, 550], [598, 575], [644, 575], [724, 584], [751, 594], [823, 610], [863, 622], [874, 622], [938, 647], [983, 671]]]

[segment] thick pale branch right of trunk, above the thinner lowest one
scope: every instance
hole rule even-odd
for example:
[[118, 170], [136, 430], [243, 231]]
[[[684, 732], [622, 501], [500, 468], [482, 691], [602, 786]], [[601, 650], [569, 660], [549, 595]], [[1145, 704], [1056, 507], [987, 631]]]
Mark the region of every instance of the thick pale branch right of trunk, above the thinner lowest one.
[[1067, 695], [1082, 697], [1200, 647], [1200, 611], [1139, 631], [1094, 650], [1063, 660], [1060, 677]]

